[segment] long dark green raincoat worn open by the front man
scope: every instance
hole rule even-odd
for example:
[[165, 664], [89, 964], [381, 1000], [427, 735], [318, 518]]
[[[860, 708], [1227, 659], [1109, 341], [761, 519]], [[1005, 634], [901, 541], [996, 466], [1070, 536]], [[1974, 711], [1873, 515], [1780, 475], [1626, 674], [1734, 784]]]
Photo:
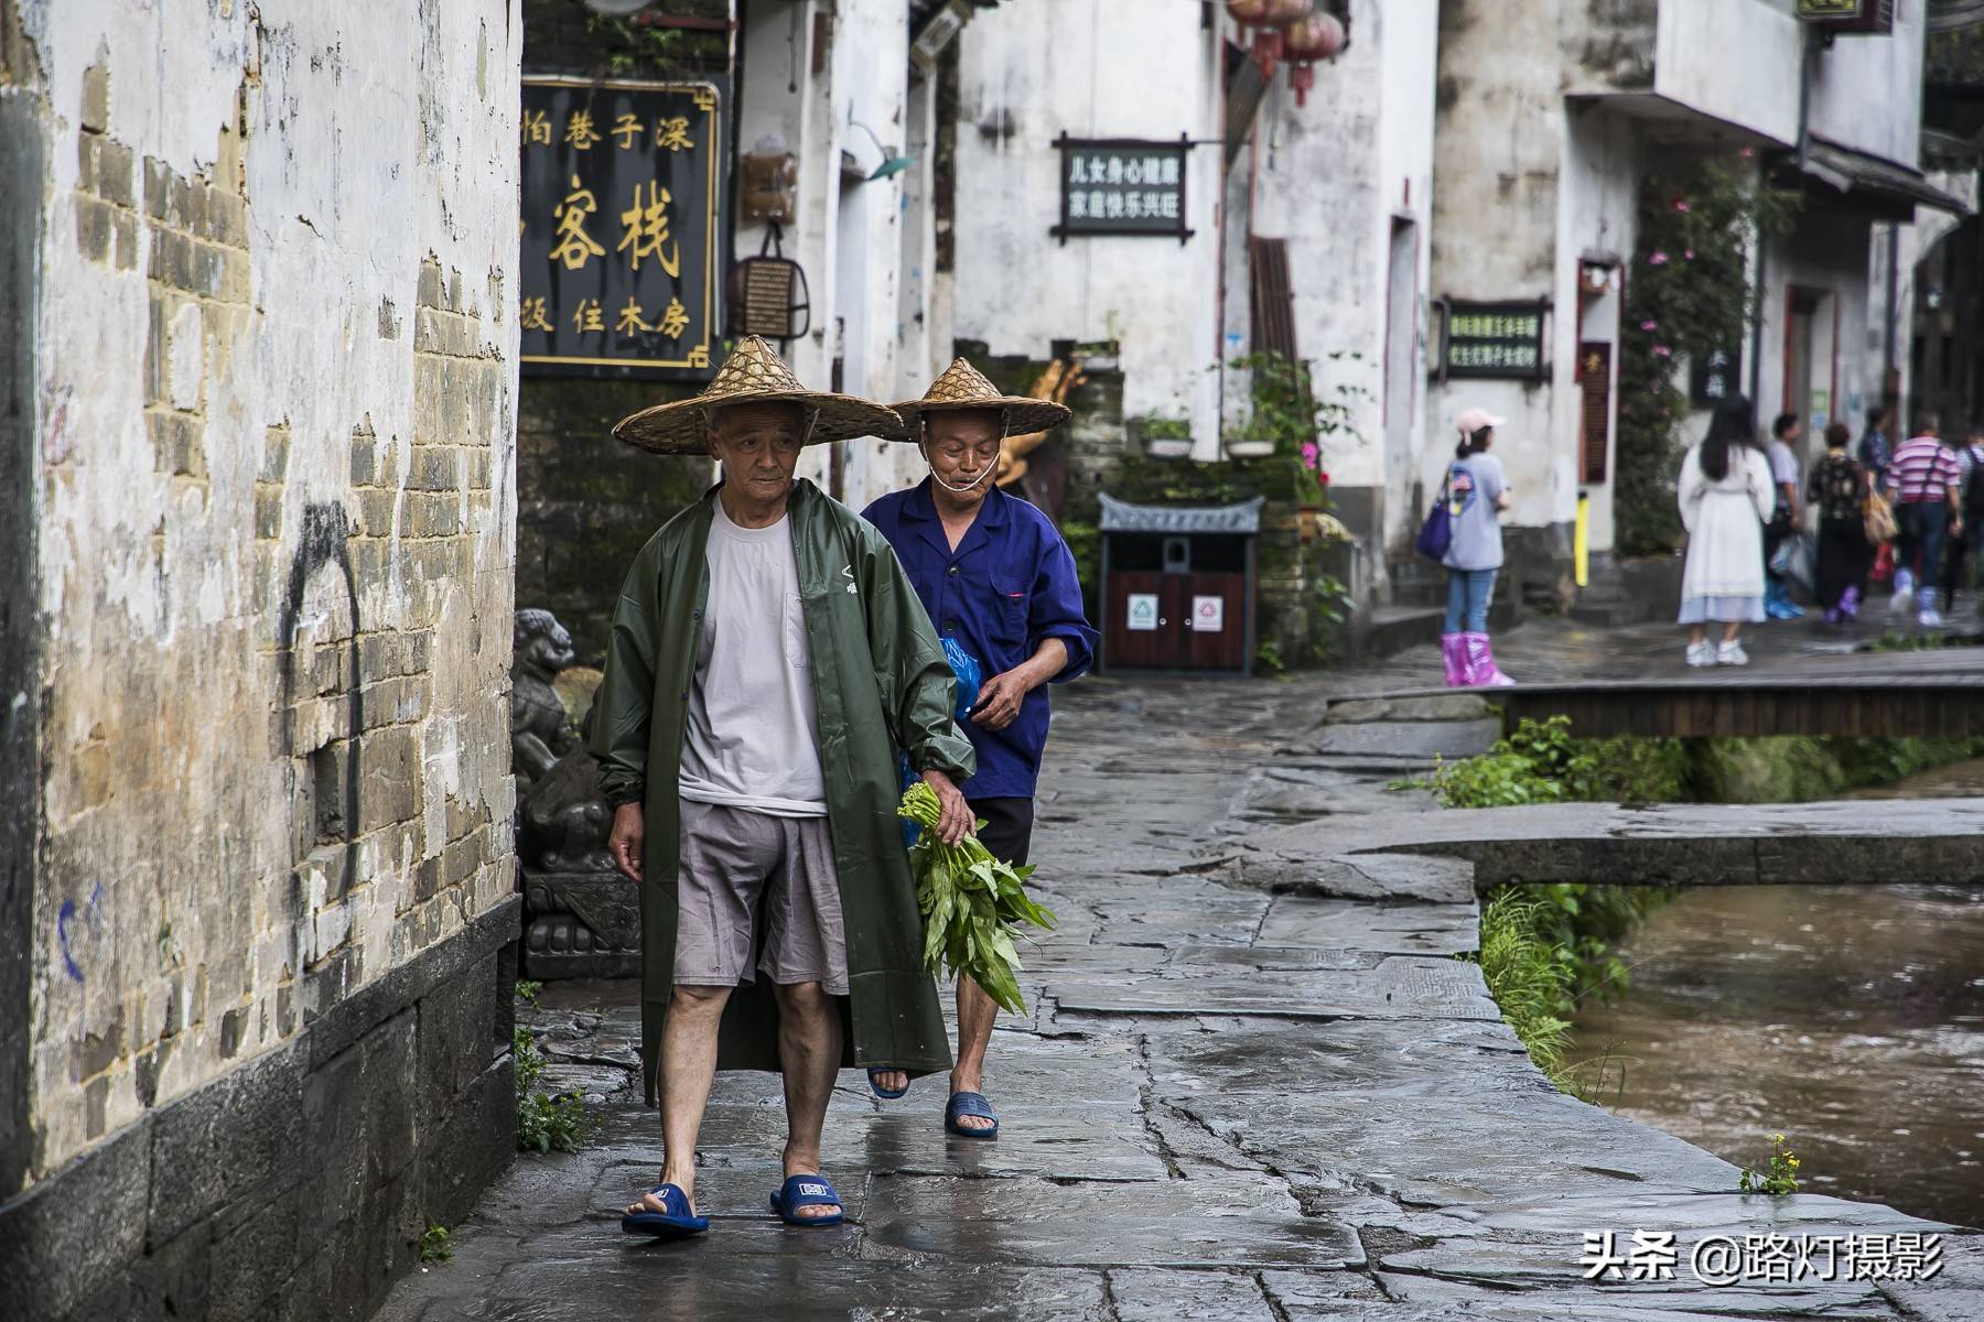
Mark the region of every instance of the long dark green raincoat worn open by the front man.
[[[704, 543], [710, 488], [669, 519], [633, 561], [613, 612], [605, 678], [591, 716], [591, 751], [609, 803], [643, 801], [641, 1056], [657, 1098], [661, 1027], [675, 983], [681, 799], [677, 777], [688, 721], [696, 636], [710, 593]], [[895, 551], [857, 513], [800, 480], [788, 503], [792, 549], [813, 660], [819, 769], [847, 930], [843, 1068], [950, 1068], [936, 983], [923, 967], [923, 920], [903, 850], [897, 755], [917, 771], [964, 781], [970, 741], [952, 717], [950, 664]], [[766, 664], [784, 664], [768, 656]], [[778, 1003], [760, 977], [724, 1007], [716, 1066], [778, 1070]]]

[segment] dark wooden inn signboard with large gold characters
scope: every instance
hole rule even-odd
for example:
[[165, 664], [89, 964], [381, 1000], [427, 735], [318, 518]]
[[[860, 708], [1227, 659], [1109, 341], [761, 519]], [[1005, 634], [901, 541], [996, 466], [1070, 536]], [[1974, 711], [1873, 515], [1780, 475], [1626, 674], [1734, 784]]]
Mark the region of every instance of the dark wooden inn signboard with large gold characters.
[[708, 381], [722, 337], [724, 79], [526, 77], [526, 373]]

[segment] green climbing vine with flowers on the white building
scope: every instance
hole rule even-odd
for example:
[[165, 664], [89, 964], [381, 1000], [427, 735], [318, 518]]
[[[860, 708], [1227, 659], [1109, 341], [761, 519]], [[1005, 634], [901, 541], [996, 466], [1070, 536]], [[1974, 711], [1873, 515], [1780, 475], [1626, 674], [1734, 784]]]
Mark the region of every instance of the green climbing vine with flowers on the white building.
[[1790, 232], [1796, 212], [1796, 192], [1756, 180], [1748, 149], [1702, 161], [1686, 178], [1643, 184], [1619, 355], [1621, 553], [1661, 555], [1680, 543], [1674, 476], [1688, 442], [1688, 390], [1676, 365], [1744, 343], [1756, 315], [1748, 252], [1758, 238]]

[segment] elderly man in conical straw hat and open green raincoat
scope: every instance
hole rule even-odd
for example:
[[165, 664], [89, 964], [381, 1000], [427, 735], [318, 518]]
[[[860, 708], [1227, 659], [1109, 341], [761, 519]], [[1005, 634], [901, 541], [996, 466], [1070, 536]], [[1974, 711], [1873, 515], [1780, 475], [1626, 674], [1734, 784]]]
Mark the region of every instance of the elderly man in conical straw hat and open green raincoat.
[[641, 884], [641, 1041], [661, 1185], [621, 1229], [696, 1235], [694, 1152], [714, 1072], [780, 1070], [788, 1225], [841, 1221], [819, 1140], [843, 1066], [950, 1068], [903, 850], [897, 749], [972, 826], [952, 672], [889, 543], [794, 482], [806, 444], [887, 434], [887, 408], [806, 390], [744, 339], [692, 400], [625, 418], [724, 480], [635, 557], [591, 717], [609, 850]]

